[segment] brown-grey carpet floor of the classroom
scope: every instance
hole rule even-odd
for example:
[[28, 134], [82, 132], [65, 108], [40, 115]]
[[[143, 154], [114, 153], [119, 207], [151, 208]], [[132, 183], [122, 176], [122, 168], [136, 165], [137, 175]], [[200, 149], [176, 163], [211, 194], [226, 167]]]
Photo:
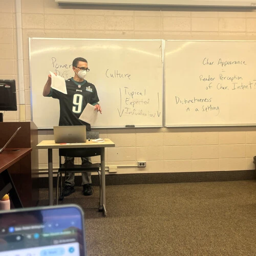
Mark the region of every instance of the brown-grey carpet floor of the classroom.
[[107, 217], [81, 191], [63, 203], [84, 210], [88, 256], [256, 255], [255, 180], [106, 186]]

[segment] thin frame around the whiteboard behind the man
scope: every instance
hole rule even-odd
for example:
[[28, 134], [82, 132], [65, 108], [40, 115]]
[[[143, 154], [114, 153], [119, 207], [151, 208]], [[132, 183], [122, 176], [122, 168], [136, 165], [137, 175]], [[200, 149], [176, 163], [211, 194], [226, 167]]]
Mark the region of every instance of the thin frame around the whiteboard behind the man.
[[[161, 46], [162, 46], [162, 53], [161, 53], [161, 60], [162, 60], [162, 85], [161, 85], [161, 90], [162, 90], [162, 108], [159, 106], [159, 108], [162, 111], [162, 124], [159, 125], [135, 125], [134, 127], [125, 127], [125, 126], [92, 126], [93, 129], [135, 129], [135, 128], [159, 128], [159, 127], [164, 127], [164, 51], [163, 51], [163, 44], [164, 40], [163, 39], [113, 39], [113, 38], [108, 38], [108, 39], [103, 39], [103, 38], [54, 38], [54, 37], [29, 37], [29, 77], [30, 77], [30, 100], [31, 100], [31, 105], [30, 105], [30, 111], [31, 111], [31, 120], [33, 121], [33, 101], [32, 101], [32, 77], [31, 77], [31, 55], [30, 55], [30, 48], [31, 48], [31, 40], [32, 39], [49, 39], [49, 40], [97, 40], [97, 41], [159, 41]], [[38, 130], [51, 130], [53, 127], [38, 127]]]

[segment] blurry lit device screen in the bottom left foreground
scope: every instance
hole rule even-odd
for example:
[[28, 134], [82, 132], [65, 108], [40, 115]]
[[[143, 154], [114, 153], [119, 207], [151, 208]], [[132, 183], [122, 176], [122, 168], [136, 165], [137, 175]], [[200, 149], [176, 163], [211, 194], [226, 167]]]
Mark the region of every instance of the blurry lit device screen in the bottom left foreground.
[[0, 211], [0, 256], [50, 255], [87, 255], [79, 206]]

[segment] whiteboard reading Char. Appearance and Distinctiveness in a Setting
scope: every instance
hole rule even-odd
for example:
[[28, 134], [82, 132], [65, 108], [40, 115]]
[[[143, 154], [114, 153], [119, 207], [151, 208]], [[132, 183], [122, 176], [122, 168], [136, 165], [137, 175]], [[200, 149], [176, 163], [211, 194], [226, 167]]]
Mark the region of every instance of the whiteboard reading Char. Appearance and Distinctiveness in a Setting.
[[255, 41], [165, 41], [165, 126], [255, 125]]

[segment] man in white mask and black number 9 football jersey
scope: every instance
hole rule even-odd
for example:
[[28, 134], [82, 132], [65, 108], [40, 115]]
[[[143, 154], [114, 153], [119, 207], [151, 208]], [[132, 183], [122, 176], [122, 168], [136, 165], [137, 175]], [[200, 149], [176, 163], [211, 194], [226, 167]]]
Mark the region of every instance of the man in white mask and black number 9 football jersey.
[[[91, 131], [91, 125], [79, 119], [79, 116], [87, 103], [94, 105], [95, 111], [99, 111], [101, 114], [97, 90], [92, 83], [85, 80], [87, 72], [90, 71], [90, 69], [88, 69], [87, 60], [81, 57], [75, 58], [73, 60], [73, 71], [75, 72], [74, 77], [65, 80], [67, 94], [63, 94], [51, 88], [52, 78], [51, 75], [48, 75], [48, 80], [45, 84], [42, 95], [59, 100], [59, 125], [86, 125], [86, 130]], [[81, 159], [82, 164], [88, 164], [91, 162], [89, 157], [82, 157]], [[67, 157], [65, 158], [65, 162], [67, 164], [74, 165], [74, 158]], [[66, 175], [65, 187], [62, 191], [63, 196], [67, 197], [75, 192], [74, 178], [74, 173], [68, 173]], [[91, 173], [82, 173], [82, 193], [84, 196], [90, 196], [93, 194], [91, 184]]]

